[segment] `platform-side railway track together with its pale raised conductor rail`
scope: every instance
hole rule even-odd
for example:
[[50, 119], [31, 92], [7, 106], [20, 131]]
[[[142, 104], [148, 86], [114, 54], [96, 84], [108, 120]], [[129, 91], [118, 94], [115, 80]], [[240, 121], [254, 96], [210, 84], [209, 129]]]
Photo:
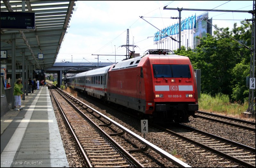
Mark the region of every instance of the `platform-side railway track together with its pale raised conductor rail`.
[[[145, 139], [141, 138], [137, 134], [132, 133], [130, 130], [122, 128], [122, 126], [118, 126], [114, 122], [110, 123], [108, 120], [106, 120], [106, 116], [100, 115], [99, 113], [95, 115], [95, 110], [93, 108], [85, 105], [84, 103], [75, 99], [69, 94], [65, 93], [64, 95], [62, 95], [62, 98], [65, 99], [65, 101], [69, 101], [68, 104], [63, 104], [65, 102], [64, 100], [60, 100], [59, 102], [62, 106], [62, 111], [66, 111], [64, 114], [65, 117], [69, 122], [71, 122], [70, 128], [73, 128], [74, 135], [77, 136], [76, 141], [79, 144], [78, 146], [81, 146], [80, 148], [82, 153], [84, 153], [84, 158], [86, 162], [88, 162], [86, 163], [88, 167], [143, 167], [143, 165], [140, 164], [140, 162], [138, 162], [134, 157], [132, 157], [129, 152], [143, 152], [146, 151], [148, 148], [156, 151], [162, 157], [165, 157], [166, 159], [178, 166], [190, 167], [188, 164], [185, 164], [184, 162], [180, 161], [176, 157], [173, 157], [164, 150], [159, 149], [150, 142], [147, 142]], [[75, 108], [76, 110], [74, 110], [73, 108]], [[75, 111], [80, 112], [75, 113]], [[86, 113], [86, 116], [84, 115], [84, 113]], [[93, 116], [87, 117], [87, 115]], [[87, 121], [84, 121], [84, 118], [86, 118], [89, 123], [87, 123]], [[93, 123], [93, 119], [100, 119], [101, 122], [93, 124], [93, 126], [91, 126]], [[115, 126], [122, 129], [123, 132], [115, 132], [108, 135], [100, 128], [108, 127], [111, 124], [115, 124]], [[95, 130], [95, 128], [97, 128], [97, 130]], [[135, 139], [142, 142], [143, 145], [146, 145], [146, 147], [142, 149], [128, 150], [128, 152], [110, 137], [113, 135], [123, 135], [124, 133], [128, 133], [129, 135], [133, 136]]]

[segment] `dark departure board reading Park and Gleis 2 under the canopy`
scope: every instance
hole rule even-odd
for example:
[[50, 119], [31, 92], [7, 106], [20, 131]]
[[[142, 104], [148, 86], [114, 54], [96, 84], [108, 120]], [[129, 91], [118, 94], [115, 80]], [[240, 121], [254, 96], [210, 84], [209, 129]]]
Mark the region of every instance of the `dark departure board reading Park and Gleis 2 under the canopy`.
[[35, 30], [35, 13], [1, 12], [1, 30]]

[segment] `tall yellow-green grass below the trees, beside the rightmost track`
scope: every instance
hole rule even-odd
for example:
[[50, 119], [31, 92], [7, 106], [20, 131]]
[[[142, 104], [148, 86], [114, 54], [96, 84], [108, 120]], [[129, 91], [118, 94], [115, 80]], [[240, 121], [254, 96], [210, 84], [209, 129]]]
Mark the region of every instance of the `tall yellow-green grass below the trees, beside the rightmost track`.
[[242, 115], [243, 112], [246, 112], [248, 103], [230, 103], [228, 95], [217, 94], [215, 97], [212, 97], [209, 94], [201, 93], [198, 105], [199, 111], [213, 112], [255, 122], [255, 118], [247, 118]]

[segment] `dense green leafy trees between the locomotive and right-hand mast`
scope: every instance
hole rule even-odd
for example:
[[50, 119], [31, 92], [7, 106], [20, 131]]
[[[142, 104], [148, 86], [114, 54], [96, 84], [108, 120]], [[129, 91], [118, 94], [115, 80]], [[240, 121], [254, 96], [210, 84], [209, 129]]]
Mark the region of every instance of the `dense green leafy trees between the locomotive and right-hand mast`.
[[[246, 46], [251, 45], [251, 25], [242, 21], [241, 26], [234, 24], [232, 31], [221, 28]], [[219, 30], [213, 36], [200, 38], [200, 44], [186, 50], [184, 46], [174, 51], [177, 55], [188, 56], [194, 69], [201, 69], [201, 91], [212, 96], [227, 94], [233, 101], [244, 101], [248, 96], [245, 77], [249, 75], [250, 50], [231, 39]], [[197, 37], [199, 38], [199, 37]]]

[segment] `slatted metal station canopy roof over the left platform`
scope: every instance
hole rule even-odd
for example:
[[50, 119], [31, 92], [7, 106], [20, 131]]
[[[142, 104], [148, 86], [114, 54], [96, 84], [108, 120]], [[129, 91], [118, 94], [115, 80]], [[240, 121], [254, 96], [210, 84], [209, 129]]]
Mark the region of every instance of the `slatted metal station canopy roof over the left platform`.
[[[7, 69], [12, 65], [13, 39], [15, 39], [16, 65], [22, 65], [22, 55], [25, 54], [25, 59], [28, 59], [30, 65], [35, 65], [36, 69], [52, 67], [67, 33], [75, 2], [1, 1], [1, 53], [3, 50], [7, 51], [7, 59], [4, 60]], [[2, 28], [2, 14], [7, 12], [18, 14], [24, 9], [25, 12], [35, 13], [35, 30]], [[2, 55], [1, 61], [3, 61]]]

